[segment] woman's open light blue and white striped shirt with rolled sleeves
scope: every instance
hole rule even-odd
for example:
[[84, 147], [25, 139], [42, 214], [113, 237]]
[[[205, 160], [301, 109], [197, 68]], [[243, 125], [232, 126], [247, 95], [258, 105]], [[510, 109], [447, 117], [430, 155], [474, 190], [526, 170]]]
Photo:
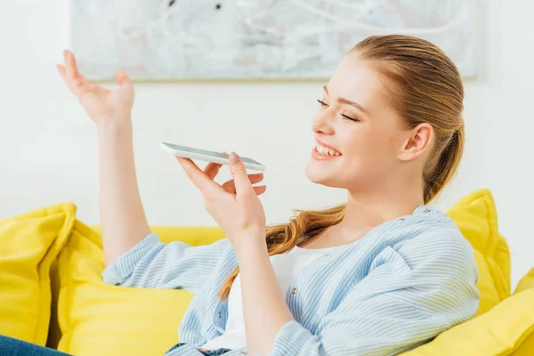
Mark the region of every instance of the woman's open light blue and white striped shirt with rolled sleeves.
[[[187, 343], [166, 356], [198, 356], [224, 333], [227, 302], [216, 295], [238, 266], [228, 239], [190, 247], [150, 234], [103, 272], [125, 287], [184, 288], [194, 294], [179, 328]], [[299, 271], [287, 288], [295, 320], [275, 337], [269, 356], [392, 355], [425, 344], [473, 317], [480, 293], [473, 248], [440, 211], [382, 223]], [[247, 354], [247, 348], [227, 356]]]

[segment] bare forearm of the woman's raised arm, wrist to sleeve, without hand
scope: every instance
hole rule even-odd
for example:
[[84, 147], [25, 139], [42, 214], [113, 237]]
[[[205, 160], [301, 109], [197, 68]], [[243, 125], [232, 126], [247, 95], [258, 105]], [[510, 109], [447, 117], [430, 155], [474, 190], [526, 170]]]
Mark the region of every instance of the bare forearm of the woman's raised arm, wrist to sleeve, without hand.
[[100, 214], [106, 264], [150, 233], [137, 185], [132, 124], [98, 128]]

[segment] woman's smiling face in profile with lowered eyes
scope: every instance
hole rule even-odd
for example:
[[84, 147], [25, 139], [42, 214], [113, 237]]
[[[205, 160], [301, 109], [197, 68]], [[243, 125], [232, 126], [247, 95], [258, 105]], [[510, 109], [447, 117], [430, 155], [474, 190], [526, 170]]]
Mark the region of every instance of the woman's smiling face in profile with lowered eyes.
[[399, 157], [409, 130], [385, 93], [383, 80], [368, 62], [354, 54], [341, 61], [312, 122], [316, 147], [306, 166], [312, 182], [379, 190], [401, 169]]

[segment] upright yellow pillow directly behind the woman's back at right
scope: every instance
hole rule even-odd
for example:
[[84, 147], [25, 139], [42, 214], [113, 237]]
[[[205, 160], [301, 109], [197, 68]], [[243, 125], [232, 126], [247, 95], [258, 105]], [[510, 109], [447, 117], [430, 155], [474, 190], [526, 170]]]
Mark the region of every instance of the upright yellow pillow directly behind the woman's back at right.
[[498, 232], [495, 202], [490, 190], [476, 190], [447, 214], [473, 246], [479, 269], [477, 287], [481, 291], [476, 315], [481, 315], [510, 295], [510, 253], [506, 239]]

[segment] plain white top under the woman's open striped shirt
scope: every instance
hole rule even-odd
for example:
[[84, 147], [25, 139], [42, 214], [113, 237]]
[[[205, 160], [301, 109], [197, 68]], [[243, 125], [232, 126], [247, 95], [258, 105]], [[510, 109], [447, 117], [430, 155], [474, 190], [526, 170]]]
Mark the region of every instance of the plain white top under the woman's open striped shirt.
[[[278, 279], [280, 290], [286, 295], [287, 288], [298, 271], [311, 263], [314, 259], [326, 255], [336, 247], [303, 248], [295, 247], [286, 254], [271, 255], [272, 269]], [[245, 319], [243, 316], [243, 302], [241, 299], [241, 278], [238, 274], [234, 279], [228, 295], [228, 322], [224, 334], [208, 341], [201, 346], [207, 350], [226, 348], [231, 350], [247, 346], [245, 336]]]

